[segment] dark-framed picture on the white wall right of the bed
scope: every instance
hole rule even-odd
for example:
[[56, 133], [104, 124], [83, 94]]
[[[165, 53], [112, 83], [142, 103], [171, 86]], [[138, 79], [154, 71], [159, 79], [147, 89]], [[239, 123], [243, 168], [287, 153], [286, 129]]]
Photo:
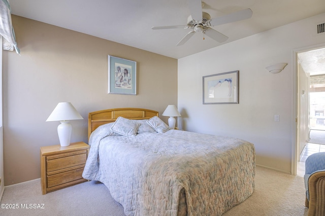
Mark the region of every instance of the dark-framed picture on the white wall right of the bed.
[[203, 77], [203, 104], [239, 103], [239, 70]]

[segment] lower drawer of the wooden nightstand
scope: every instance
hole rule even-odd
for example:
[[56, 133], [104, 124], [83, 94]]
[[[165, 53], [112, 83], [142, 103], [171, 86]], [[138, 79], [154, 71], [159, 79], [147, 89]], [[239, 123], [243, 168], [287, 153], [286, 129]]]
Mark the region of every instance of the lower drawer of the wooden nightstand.
[[82, 179], [83, 167], [79, 169], [70, 170], [67, 172], [61, 172], [54, 175], [47, 176], [47, 187], [51, 188], [64, 183], [73, 182], [78, 179]]

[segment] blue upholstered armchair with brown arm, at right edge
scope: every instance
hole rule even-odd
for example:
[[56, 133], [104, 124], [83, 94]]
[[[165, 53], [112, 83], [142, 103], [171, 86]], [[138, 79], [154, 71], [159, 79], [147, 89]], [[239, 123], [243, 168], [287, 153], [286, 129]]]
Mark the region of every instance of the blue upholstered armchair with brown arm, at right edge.
[[325, 152], [310, 155], [305, 163], [306, 202], [309, 215], [325, 215]]

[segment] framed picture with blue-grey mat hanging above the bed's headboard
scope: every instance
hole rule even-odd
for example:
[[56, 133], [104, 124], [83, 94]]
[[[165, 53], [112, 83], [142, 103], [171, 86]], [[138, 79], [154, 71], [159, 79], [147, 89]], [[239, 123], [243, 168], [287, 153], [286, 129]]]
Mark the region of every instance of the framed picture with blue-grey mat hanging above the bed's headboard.
[[108, 93], [137, 94], [137, 62], [108, 56]]

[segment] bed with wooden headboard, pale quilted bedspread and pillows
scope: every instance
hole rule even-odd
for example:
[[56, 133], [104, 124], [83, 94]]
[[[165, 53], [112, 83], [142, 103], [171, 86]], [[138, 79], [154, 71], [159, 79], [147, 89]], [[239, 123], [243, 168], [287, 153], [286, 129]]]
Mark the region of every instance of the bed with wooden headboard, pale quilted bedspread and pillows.
[[89, 113], [88, 137], [82, 176], [105, 184], [126, 215], [221, 215], [254, 191], [252, 143], [172, 130], [156, 111]]

